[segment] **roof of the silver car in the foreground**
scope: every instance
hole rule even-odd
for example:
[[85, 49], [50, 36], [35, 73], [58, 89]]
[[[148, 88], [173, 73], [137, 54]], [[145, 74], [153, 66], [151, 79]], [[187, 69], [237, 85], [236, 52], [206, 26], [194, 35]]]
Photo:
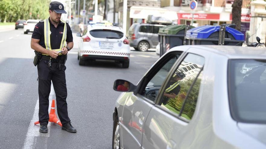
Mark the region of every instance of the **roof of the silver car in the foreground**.
[[[211, 53], [224, 55], [229, 59], [236, 59], [236, 58], [266, 59], [266, 48], [227, 46], [227, 45], [183, 45], [182, 47], [197, 48], [200, 50], [209, 51]], [[174, 47], [173, 50], [178, 50], [178, 47]]]

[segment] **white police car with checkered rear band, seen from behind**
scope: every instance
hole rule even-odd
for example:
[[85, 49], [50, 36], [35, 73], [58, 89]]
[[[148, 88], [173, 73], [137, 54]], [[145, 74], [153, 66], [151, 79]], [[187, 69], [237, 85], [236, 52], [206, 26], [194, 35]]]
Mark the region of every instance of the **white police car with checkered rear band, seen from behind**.
[[114, 60], [129, 67], [130, 46], [123, 30], [110, 23], [90, 24], [84, 29], [78, 49], [79, 65], [85, 65], [86, 60]]

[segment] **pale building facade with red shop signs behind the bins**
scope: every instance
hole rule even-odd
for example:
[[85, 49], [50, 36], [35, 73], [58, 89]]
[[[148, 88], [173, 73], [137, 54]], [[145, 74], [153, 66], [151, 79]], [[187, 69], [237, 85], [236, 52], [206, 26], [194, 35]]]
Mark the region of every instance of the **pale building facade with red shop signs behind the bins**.
[[[232, 22], [232, 4], [234, 0], [196, 0], [198, 7], [192, 11], [190, 0], [161, 0], [161, 7], [176, 11], [178, 24], [191, 24], [193, 13], [193, 26], [220, 25]], [[241, 32], [249, 30], [251, 18], [251, 0], [243, 0], [241, 14]]]

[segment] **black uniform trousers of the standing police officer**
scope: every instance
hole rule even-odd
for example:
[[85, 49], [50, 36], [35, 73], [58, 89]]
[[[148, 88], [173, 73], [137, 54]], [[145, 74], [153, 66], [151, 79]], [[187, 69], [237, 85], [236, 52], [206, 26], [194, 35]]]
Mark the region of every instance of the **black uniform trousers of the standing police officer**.
[[51, 91], [51, 81], [54, 85], [54, 92], [56, 95], [57, 114], [63, 124], [69, 123], [70, 119], [67, 113], [67, 89], [66, 89], [66, 66], [58, 69], [58, 63], [51, 63], [48, 66], [48, 61], [41, 59], [37, 65], [38, 79], [39, 79], [39, 122], [40, 125], [48, 124], [49, 120], [49, 95]]

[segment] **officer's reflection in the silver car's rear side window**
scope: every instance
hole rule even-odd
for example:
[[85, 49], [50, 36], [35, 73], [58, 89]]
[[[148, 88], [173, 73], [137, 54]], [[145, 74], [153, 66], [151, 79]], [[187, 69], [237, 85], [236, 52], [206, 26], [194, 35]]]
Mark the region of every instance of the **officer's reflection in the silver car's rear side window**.
[[184, 77], [186, 77], [184, 73], [177, 73], [174, 77], [170, 79], [170, 82], [167, 84], [166, 90], [164, 91], [164, 97], [162, 100], [162, 103], [164, 105], [167, 104], [169, 98], [176, 98], [181, 89], [181, 86], [179, 85], [179, 80], [182, 80]]

